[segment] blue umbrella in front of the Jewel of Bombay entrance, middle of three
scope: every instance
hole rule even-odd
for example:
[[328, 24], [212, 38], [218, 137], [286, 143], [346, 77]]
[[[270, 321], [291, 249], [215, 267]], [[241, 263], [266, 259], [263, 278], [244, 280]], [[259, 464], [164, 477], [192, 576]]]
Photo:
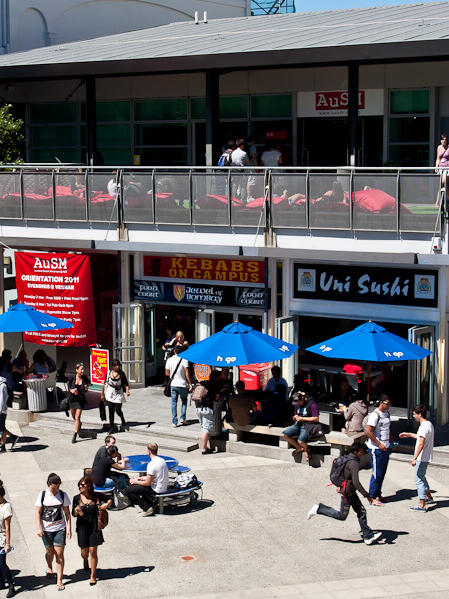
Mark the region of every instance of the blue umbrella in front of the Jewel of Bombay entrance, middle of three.
[[243, 366], [289, 358], [298, 349], [240, 322], [233, 322], [180, 354], [189, 362], [209, 366]]

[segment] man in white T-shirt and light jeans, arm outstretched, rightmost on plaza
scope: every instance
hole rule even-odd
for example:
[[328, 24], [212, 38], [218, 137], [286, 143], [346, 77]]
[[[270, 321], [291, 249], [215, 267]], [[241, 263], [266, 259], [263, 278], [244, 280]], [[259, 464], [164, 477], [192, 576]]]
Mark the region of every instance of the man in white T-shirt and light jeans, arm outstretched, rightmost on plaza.
[[413, 418], [419, 422], [418, 432], [401, 433], [400, 439], [416, 439], [413, 452], [412, 466], [415, 468], [415, 485], [418, 491], [418, 505], [411, 507], [413, 512], [426, 512], [427, 503], [433, 501], [429, 483], [426, 479], [427, 466], [432, 461], [434, 430], [433, 424], [426, 418], [427, 410], [424, 406], [413, 409]]

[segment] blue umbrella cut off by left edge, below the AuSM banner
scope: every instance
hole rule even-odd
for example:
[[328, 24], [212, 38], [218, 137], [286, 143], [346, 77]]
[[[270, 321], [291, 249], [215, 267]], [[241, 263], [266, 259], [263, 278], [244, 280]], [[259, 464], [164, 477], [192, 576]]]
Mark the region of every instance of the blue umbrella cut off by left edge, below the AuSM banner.
[[32, 306], [16, 304], [4, 314], [0, 314], [0, 333], [23, 333], [29, 331], [56, 331], [71, 329], [73, 322], [55, 318], [51, 314], [39, 312]]

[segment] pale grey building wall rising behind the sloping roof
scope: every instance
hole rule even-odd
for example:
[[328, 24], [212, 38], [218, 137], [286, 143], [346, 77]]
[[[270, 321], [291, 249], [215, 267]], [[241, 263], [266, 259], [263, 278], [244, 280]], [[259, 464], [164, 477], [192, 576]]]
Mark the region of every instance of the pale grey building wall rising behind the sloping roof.
[[[10, 0], [9, 52], [61, 44], [194, 18], [249, 15], [248, 0]], [[2, 19], [6, 16], [2, 15]]]

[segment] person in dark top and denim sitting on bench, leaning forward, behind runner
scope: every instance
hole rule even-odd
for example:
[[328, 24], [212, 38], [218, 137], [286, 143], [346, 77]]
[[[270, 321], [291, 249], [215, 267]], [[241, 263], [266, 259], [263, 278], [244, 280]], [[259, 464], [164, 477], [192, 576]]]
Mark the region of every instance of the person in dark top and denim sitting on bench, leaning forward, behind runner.
[[298, 391], [292, 399], [295, 408], [293, 414], [295, 422], [282, 432], [282, 439], [295, 448], [293, 456], [297, 456], [303, 451], [308, 461], [310, 449], [306, 441], [323, 434], [319, 423], [318, 405], [304, 391]]

